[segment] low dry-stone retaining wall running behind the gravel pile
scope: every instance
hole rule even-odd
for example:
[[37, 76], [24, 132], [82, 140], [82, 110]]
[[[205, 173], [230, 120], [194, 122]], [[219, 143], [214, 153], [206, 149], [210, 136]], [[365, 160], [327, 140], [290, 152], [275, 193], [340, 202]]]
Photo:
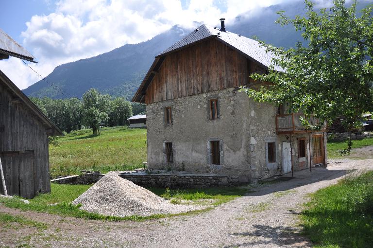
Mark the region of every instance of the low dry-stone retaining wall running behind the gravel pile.
[[[62, 184], [93, 184], [104, 174], [83, 173], [81, 176], [63, 177], [52, 180]], [[162, 188], [203, 188], [212, 186], [237, 186], [238, 176], [196, 176], [196, 175], [119, 175], [143, 187]]]

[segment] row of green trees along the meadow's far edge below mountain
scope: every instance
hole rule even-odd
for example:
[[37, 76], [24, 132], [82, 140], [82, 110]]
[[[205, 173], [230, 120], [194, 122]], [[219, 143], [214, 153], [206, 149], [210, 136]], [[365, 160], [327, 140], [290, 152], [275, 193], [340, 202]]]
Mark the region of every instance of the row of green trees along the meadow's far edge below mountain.
[[127, 125], [132, 115], [144, 114], [146, 107], [131, 103], [124, 97], [113, 98], [97, 89], [89, 89], [83, 98], [30, 98], [36, 106], [61, 130], [71, 132], [92, 128], [97, 134], [102, 126]]

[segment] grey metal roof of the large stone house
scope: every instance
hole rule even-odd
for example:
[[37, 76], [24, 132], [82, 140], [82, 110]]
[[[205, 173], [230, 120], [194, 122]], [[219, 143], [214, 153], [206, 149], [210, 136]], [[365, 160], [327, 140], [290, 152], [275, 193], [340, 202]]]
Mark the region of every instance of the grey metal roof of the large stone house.
[[[247, 56], [266, 66], [267, 68], [273, 64], [272, 58], [275, 57], [274, 54], [267, 52], [266, 48], [261, 46], [260, 43], [256, 40], [250, 39], [242, 35], [239, 36], [231, 32], [222, 32], [219, 29], [214, 29], [204, 24], [195, 29], [194, 31], [192, 31], [190, 34], [186, 35], [184, 38], [182, 38], [172, 46], [170, 46], [168, 49], [160, 53], [158, 56], [162, 56], [174, 50], [179, 50], [192, 43], [213, 36], [217, 37], [217, 39], [220, 39], [221, 41], [227, 43], [228, 45], [232, 46], [238, 51], [246, 54]], [[274, 69], [276, 71], [285, 71], [279, 66], [274, 66]]]

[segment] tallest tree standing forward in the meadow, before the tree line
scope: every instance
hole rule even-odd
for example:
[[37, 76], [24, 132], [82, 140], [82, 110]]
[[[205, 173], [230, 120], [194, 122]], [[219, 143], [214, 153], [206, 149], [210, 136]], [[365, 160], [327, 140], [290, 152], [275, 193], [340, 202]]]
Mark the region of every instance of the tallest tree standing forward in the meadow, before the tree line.
[[110, 95], [102, 95], [97, 89], [83, 94], [83, 124], [91, 127], [93, 134], [97, 134], [101, 124], [107, 124], [110, 101]]

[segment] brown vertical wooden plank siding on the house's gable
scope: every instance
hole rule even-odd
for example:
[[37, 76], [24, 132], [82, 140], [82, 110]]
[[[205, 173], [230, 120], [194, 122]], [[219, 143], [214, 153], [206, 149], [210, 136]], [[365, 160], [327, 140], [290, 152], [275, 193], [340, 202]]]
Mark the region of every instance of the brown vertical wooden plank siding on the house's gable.
[[250, 73], [261, 70], [236, 50], [209, 39], [168, 54], [146, 90], [145, 103], [247, 85], [253, 82]]

